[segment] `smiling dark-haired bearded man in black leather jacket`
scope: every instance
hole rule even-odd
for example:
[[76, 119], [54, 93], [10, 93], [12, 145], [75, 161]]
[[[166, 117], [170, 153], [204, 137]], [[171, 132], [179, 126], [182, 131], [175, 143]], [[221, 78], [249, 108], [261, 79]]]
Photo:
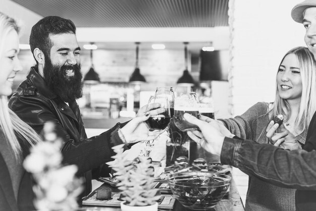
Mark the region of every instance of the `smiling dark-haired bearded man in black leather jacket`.
[[149, 132], [144, 121], [162, 110], [144, 115], [142, 108], [131, 121], [87, 138], [76, 103], [82, 97], [82, 73], [74, 23], [57, 16], [39, 20], [32, 27], [30, 47], [36, 65], [11, 97], [9, 107], [37, 133], [45, 122], [55, 123], [57, 134], [64, 140], [64, 162], [78, 166], [78, 174], [85, 177], [83, 195], [88, 195], [92, 177], [107, 176], [108, 168], [103, 166], [114, 155], [113, 146], [152, 140], [161, 133]]

